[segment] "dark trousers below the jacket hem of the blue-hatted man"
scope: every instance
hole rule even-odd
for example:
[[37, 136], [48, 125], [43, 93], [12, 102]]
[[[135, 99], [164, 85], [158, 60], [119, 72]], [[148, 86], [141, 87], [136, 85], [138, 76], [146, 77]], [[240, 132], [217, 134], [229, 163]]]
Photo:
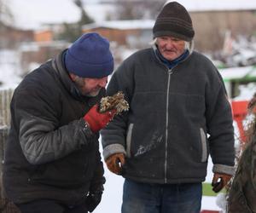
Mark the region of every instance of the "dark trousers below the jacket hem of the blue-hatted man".
[[67, 206], [55, 200], [40, 199], [26, 204], [16, 204], [21, 213], [88, 213], [85, 204]]

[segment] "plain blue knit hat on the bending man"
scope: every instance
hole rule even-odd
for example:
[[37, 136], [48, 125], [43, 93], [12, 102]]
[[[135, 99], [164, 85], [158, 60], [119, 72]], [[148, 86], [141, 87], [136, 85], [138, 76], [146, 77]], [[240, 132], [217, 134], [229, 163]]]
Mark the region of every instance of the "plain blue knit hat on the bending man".
[[113, 55], [109, 42], [96, 32], [82, 35], [65, 55], [68, 72], [82, 78], [103, 78], [113, 72]]

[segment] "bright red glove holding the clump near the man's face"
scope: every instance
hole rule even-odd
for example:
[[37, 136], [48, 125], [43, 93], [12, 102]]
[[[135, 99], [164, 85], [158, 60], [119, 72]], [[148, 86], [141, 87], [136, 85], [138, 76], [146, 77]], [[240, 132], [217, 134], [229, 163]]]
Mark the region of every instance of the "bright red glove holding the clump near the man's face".
[[116, 109], [107, 112], [98, 112], [98, 105], [91, 107], [89, 112], [84, 115], [84, 120], [90, 126], [90, 130], [97, 132], [102, 130], [116, 113]]

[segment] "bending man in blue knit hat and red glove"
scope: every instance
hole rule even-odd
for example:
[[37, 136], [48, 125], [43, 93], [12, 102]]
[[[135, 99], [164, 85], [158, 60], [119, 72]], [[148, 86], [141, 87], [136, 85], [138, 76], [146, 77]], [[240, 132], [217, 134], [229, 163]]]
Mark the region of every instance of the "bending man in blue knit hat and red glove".
[[108, 40], [84, 34], [23, 79], [11, 101], [3, 184], [22, 213], [84, 213], [102, 198], [97, 112], [113, 72]]

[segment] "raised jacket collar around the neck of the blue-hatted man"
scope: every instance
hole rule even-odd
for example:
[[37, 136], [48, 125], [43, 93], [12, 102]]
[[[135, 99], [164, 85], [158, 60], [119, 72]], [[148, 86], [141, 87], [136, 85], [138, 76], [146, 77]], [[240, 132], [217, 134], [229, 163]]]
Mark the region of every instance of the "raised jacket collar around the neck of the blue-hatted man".
[[59, 55], [52, 60], [52, 66], [57, 72], [58, 76], [61, 78], [61, 83], [63, 83], [64, 87], [71, 93], [71, 95], [78, 101], [87, 102], [90, 106], [93, 106], [97, 101], [99, 101], [103, 95], [106, 93], [106, 89], [101, 89], [99, 95], [96, 97], [88, 97], [82, 95], [79, 92], [79, 89], [75, 86], [73, 81], [68, 75], [67, 69], [64, 63], [64, 55], [66, 54], [67, 49], [64, 49]]

